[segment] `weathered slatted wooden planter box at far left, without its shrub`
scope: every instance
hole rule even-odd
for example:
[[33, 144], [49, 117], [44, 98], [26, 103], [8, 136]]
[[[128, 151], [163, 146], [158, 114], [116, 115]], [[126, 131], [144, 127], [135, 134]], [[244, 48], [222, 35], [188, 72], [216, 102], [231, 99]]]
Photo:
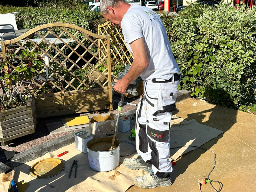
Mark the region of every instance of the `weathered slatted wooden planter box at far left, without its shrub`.
[[4, 146], [13, 139], [34, 133], [36, 108], [34, 96], [28, 96], [26, 106], [0, 112], [0, 141]]

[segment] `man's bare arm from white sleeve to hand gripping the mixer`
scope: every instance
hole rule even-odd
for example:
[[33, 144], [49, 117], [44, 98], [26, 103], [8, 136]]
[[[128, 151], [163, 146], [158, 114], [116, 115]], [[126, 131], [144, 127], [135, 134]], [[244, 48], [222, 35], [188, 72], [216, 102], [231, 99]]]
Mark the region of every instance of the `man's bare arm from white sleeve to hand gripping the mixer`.
[[129, 72], [121, 80], [116, 80], [116, 85], [114, 86], [115, 91], [125, 94], [128, 85], [140, 76], [143, 71], [148, 67], [148, 56], [144, 44], [143, 38], [133, 41], [131, 44], [133, 51], [133, 62], [132, 67]]

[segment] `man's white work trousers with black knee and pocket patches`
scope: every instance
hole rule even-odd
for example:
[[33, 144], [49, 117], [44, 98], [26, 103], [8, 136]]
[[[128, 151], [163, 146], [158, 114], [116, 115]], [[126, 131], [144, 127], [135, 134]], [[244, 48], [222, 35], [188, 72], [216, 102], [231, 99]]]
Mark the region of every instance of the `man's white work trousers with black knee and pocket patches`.
[[180, 82], [173, 76], [171, 82], [163, 81], [143, 82], [145, 93], [136, 111], [136, 149], [145, 162], [151, 160], [156, 175], [172, 172], [169, 131]]

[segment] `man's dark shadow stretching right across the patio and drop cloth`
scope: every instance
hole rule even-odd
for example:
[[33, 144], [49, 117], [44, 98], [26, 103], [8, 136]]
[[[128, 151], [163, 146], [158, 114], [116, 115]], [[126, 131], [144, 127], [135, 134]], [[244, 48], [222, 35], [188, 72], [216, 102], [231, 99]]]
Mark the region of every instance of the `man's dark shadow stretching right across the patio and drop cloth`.
[[[218, 94], [212, 95], [213, 93], [216, 93], [216, 92], [218, 92]], [[219, 97], [218, 100], [222, 98], [223, 100], [226, 100], [227, 103], [229, 103], [229, 106], [232, 106], [231, 97], [230, 96], [227, 97], [227, 95], [229, 94], [225, 91], [222, 91], [220, 89], [216, 90], [216, 89], [208, 88], [206, 95], [209, 95], [212, 100], [214, 99], [217, 100], [216, 97]], [[210, 113], [208, 119], [207, 119], [207, 116], [208, 116], [207, 113]], [[187, 115], [188, 117], [185, 120], [189, 121], [189, 120], [195, 119], [199, 124], [207, 125], [209, 127], [216, 128], [220, 131], [226, 132], [236, 123], [236, 115], [237, 115], [237, 110], [216, 105], [214, 108], [211, 108], [211, 109], [206, 109], [200, 112], [188, 114]], [[207, 132], [205, 132], [205, 134], [207, 134]], [[216, 138], [208, 141], [206, 144], [204, 144], [203, 148], [210, 149], [222, 137], [223, 137], [223, 133], [221, 133]], [[196, 138], [193, 137], [192, 134], [191, 134], [191, 137], [186, 138], [186, 140], [183, 140], [180, 146], [186, 145], [186, 143], [191, 140], [193, 140], [193, 143], [195, 143], [196, 141]], [[193, 144], [193, 143], [191, 145], [196, 146], [196, 144]], [[170, 142], [170, 148], [172, 148], [171, 142]], [[180, 148], [175, 150], [178, 151], [179, 149]], [[171, 173], [172, 180], [173, 181], [176, 180], [176, 178], [179, 175], [183, 174], [188, 169], [188, 166], [190, 164], [195, 162], [205, 152], [206, 150], [198, 148], [182, 155], [180, 159], [176, 161], [176, 166], [173, 167], [173, 171]], [[213, 161], [213, 158], [212, 158], [212, 161]]]

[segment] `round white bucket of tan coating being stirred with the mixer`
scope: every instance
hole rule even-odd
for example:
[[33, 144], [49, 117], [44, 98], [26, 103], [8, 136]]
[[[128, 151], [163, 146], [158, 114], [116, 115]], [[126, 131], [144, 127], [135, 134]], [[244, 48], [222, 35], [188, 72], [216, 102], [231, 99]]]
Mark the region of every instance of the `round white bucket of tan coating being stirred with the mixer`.
[[[113, 150], [110, 150], [111, 144], [112, 137], [97, 137], [87, 143], [89, 165], [92, 170], [107, 172], [118, 167], [120, 160], [120, 142], [118, 139], [115, 140], [114, 144], [116, 148]], [[99, 148], [100, 145], [105, 147], [107, 151], [95, 150], [95, 146]]]

